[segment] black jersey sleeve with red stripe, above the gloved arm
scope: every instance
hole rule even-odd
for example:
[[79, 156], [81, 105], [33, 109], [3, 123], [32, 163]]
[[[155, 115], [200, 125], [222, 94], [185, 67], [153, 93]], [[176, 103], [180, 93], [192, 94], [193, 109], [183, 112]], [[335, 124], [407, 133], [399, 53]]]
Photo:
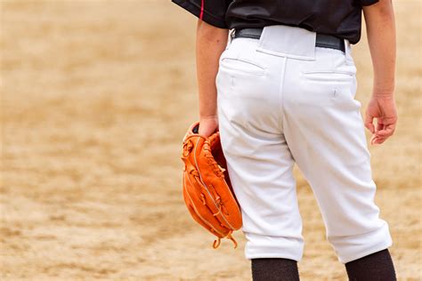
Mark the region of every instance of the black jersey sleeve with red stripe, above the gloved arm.
[[224, 17], [232, 0], [172, 0], [183, 9], [191, 12], [217, 28], [227, 28]]

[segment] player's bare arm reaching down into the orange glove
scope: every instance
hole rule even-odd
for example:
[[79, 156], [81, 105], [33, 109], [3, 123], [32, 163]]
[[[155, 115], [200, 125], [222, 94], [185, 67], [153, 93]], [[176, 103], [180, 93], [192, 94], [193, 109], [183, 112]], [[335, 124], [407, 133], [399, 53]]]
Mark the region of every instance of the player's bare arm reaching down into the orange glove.
[[196, 40], [199, 87], [199, 134], [209, 136], [218, 127], [215, 77], [218, 62], [227, 44], [228, 29], [215, 28], [198, 20]]

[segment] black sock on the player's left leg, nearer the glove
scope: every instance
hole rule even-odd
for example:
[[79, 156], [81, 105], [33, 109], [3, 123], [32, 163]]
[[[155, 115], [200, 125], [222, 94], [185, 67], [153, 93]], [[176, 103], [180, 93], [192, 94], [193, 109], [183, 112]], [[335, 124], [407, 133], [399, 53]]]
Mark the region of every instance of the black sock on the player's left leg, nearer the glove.
[[298, 281], [297, 261], [265, 258], [252, 259], [253, 281]]

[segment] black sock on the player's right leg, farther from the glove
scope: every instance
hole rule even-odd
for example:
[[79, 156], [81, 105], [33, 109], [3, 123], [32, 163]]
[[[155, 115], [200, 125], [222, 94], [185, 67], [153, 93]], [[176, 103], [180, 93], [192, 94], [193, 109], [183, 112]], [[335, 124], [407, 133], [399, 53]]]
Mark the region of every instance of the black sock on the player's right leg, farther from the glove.
[[388, 249], [345, 263], [350, 281], [395, 281], [394, 264]]

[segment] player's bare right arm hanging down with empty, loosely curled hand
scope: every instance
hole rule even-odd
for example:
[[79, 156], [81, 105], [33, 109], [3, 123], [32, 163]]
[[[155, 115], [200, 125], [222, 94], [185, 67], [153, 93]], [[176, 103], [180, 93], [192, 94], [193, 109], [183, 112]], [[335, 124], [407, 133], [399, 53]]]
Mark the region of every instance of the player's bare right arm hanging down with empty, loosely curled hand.
[[[372, 144], [383, 143], [393, 135], [397, 123], [394, 102], [395, 24], [391, 0], [363, 6], [369, 50], [374, 69], [372, 97], [366, 111], [365, 126], [372, 132]], [[377, 124], [373, 124], [377, 119]]]

